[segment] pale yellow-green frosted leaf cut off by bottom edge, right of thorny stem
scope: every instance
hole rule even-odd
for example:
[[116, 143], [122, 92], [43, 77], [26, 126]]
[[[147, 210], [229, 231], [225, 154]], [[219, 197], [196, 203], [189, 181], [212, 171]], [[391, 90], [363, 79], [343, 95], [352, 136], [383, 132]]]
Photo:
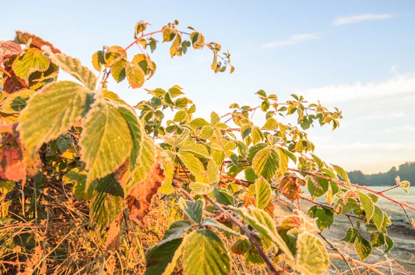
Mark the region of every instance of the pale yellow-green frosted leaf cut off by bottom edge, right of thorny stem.
[[302, 274], [324, 274], [329, 269], [329, 254], [316, 236], [303, 232], [297, 237], [295, 270]]

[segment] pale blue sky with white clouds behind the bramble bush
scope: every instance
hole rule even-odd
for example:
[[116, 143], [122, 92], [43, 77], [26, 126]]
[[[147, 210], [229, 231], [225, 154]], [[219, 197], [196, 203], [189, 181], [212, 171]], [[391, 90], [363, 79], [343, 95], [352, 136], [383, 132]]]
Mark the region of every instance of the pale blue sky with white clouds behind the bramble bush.
[[[236, 70], [214, 75], [208, 49], [172, 59], [158, 46], [145, 88], [178, 84], [204, 117], [232, 102], [257, 106], [259, 89], [302, 94], [343, 110], [338, 131], [309, 131], [327, 162], [373, 173], [415, 161], [415, 1], [25, 0], [2, 11], [2, 40], [33, 32], [89, 67], [103, 45], [129, 45], [137, 21], [158, 30], [178, 19], [229, 49]], [[127, 84], [109, 88], [130, 104], [148, 98]]]

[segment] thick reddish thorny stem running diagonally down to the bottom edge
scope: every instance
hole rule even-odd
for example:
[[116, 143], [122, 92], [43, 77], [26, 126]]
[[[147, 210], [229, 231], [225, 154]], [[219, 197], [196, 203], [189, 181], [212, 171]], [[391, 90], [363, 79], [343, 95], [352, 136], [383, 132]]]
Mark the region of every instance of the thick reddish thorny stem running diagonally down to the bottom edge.
[[[182, 182], [181, 180], [176, 180], [178, 182]], [[188, 182], [183, 182], [183, 183], [188, 183]], [[184, 195], [186, 198], [188, 198], [189, 200], [194, 201], [194, 198], [192, 198], [192, 196], [190, 196], [190, 193], [187, 193], [187, 191], [185, 191], [181, 186], [179, 186], [175, 181], [173, 181], [173, 184], [175, 187], [177, 187]], [[206, 200], [208, 200], [208, 202], [210, 202], [214, 207], [216, 207], [216, 209], [219, 210], [219, 212], [221, 212], [221, 214], [228, 214], [228, 212], [223, 209], [223, 207], [221, 205], [219, 205], [219, 203], [215, 202], [214, 200], [212, 200], [212, 198], [209, 198], [209, 196], [204, 195], [203, 196]], [[266, 256], [264, 250], [262, 250], [261, 246], [259, 246], [259, 243], [257, 242], [257, 240], [255, 239], [255, 236], [252, 234], [252, 231], [250, 231], [248, 229], [248, 227], [246, 227], [246, 225], [243, 225], [242, 222], [240, 222], [237, 218], [235, 218], [233, 215], [228, 215], [229, 218], [236, 224], [238, 225], [243, 232], [245, 232], [246, 236], [248, 236], [248, 238], [251, 240], [252, 244], [255, 246], [255, 248], [257, 249], [259, 256], [261, 256], [261, 258], [264, 260], [264, 262], [266, 263], [266, 265], [268, 266], [268, 268], [270, 269], [271, 272], [274, 272], [274, 274], [281, 274], [281, 272], [278, 272], [277, 269], [275, 269], [275, 267], [273, 266], [273, 264], [270, 262], [270, 259]]]

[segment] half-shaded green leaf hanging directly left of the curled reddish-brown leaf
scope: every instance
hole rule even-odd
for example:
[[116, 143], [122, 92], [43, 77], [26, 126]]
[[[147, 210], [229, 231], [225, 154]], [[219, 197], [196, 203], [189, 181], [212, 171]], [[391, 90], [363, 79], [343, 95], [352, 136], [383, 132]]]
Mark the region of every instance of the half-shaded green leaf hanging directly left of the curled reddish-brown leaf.
[[98, 231], [116, 220], [125, 208], [124, 191], [113, 173], [98, 180], [90, 202], [89, 215]]

